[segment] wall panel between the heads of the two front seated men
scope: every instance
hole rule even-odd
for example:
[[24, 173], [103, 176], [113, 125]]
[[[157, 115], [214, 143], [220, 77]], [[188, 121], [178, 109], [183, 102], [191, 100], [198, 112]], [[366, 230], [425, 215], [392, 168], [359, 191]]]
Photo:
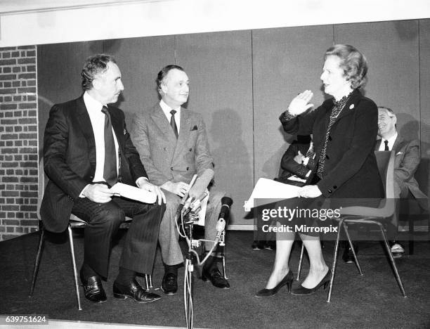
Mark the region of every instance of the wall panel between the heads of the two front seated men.
[[162, 67], [174, 63], [174, 37], [107, 40], [103, 51], [115, 56], [121, 70], [124, 92], [118, 105], [130, 127], [134, 113], [158, 101], [155, 79]]

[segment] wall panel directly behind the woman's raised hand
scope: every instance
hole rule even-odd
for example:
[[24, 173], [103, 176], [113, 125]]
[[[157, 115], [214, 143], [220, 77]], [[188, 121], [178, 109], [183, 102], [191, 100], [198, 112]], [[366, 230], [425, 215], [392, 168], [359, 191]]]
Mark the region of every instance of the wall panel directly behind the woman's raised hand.
[[329, 25], [252, 32], [255, 181], [278, 176], [280, 159], [292, 141], [278, 117], [292, 98], [311, 89], [312, 103], [323, 103], [320, 75], [332, 40]]

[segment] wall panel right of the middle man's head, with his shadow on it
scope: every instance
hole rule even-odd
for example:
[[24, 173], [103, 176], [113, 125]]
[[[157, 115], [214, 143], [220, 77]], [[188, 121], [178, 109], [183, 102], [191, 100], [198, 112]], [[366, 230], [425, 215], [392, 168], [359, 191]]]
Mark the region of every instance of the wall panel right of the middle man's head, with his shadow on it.
[[250, 224], [242, 206], [254, 186], [251, 32], [180, 35], [176, 49], [190, 77], [188, 108], [207, 125], [216, 186], [233, 196], [230, 224]]

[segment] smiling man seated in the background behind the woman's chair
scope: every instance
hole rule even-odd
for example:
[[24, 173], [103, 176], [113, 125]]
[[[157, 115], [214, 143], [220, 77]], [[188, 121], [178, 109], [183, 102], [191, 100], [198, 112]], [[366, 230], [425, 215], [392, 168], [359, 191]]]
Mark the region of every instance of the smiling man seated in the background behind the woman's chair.
[[[394, 196], [395, 198], [408, 198], [413, 195], [423, 209], [428, 209], [427, 197], [419, 190], [417, 180], [414, 177], [419, 164], [419, 141], [405, 141], [398, 135], [396, 129], [397, 117], [391, 108], [378, 107], [378, 135], [375, 150], [394, 150], [396, 158], [394, 162]], [[396, 212], [393, 225], [398, 225], [398, 213]], [[391, 243], [391, 252], [400, 256], [405, 252], [400, 243]]]

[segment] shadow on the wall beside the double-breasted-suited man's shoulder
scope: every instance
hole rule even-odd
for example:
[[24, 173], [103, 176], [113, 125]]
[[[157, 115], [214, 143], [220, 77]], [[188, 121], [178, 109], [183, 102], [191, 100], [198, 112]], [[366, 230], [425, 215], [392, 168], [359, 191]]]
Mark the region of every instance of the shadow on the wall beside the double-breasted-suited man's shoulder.
[[[212, 112], [209, 135], [214, 141], [211, 153], [215, 165], [215, 186], [231, 194], [236, 209], [242, 207], [254, 186], [251, 155], [242, 134], [242, 118], [235, 110], [223, 108]], [[232, 212], [231, 221], [234, 221], [235, 213], [242, 217], [242, 211]]]

